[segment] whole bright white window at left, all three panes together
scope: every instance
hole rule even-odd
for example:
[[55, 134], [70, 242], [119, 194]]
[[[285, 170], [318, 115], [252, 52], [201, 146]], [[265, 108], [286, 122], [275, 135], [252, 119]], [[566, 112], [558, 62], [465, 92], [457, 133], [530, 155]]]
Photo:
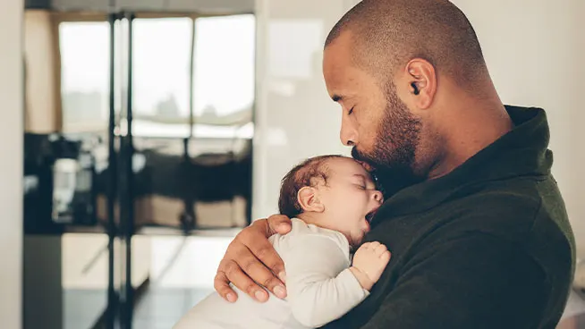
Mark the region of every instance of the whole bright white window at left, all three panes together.
[[[125, 79], [119, 80], [127, 73], [125, 30], [116, 21], [114, 104], [118, 107], [127, 95]], [[193, 31], [195, 45], [191, 49]], [[188, 137], [192, 94], [194, 137], [243, 134], [251, 138], [256, 46], [253, 14], [195, 20], [138, 18], [132, 21], [132, 32], [135, 135]], [[109, 35], [106, 21], [59, 25], [64, 132], [104, 131], [107, 127]]]

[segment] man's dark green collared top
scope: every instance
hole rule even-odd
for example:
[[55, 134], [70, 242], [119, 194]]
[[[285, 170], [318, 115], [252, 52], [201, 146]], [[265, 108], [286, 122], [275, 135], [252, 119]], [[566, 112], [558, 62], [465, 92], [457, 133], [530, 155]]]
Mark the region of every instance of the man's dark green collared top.
[[326, 328], [555, 328], [575, 247], [547, 118], [506, 110], [513, 131], [380, 207], [367, 240], [392, 259], [369, 298]]

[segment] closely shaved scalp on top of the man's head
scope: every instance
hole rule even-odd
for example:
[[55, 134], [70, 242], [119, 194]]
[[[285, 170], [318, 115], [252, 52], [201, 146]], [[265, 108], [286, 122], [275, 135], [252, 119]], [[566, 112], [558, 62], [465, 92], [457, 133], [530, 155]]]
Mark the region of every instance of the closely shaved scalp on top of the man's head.
[[325, 46], [345, 31], [351, 31], [356, 64], [378, 79], [412, 58], [427, 60], [464, 89], [488, 74], [470, 21], [446, 0], [361, 1], [335, 24]]

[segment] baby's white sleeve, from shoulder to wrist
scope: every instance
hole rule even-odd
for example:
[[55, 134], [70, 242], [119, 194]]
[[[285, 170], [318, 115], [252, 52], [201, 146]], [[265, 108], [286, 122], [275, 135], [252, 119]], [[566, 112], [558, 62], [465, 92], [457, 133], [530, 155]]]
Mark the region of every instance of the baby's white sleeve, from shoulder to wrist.
[[331, 237], [302, 235], [289, 246], [282, 253], [287, 300], [302, 325], [326, 325], [368, 297], [348, 267], [347, 252]]

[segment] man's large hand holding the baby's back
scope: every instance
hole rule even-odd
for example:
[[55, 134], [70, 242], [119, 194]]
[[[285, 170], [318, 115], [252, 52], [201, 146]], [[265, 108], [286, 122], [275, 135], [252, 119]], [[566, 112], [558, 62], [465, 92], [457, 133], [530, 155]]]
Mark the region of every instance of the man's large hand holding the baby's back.
[[284, 299], [284, 263], [268, 238], [276, 233], [288, 232], [291, 232], [291, 220], [285, 215], [271, 215], [267, 220], [255, 221], [238, 233], [227, 247], [217, 269], [214, 288], [219, 295], [230, 302], [238, 299], [229, 285], [233, 283], [238, 289], [246, 291], [251, 298], [264, 302], [267, 301], [268, 294], [260, 284], [276, 297]]

